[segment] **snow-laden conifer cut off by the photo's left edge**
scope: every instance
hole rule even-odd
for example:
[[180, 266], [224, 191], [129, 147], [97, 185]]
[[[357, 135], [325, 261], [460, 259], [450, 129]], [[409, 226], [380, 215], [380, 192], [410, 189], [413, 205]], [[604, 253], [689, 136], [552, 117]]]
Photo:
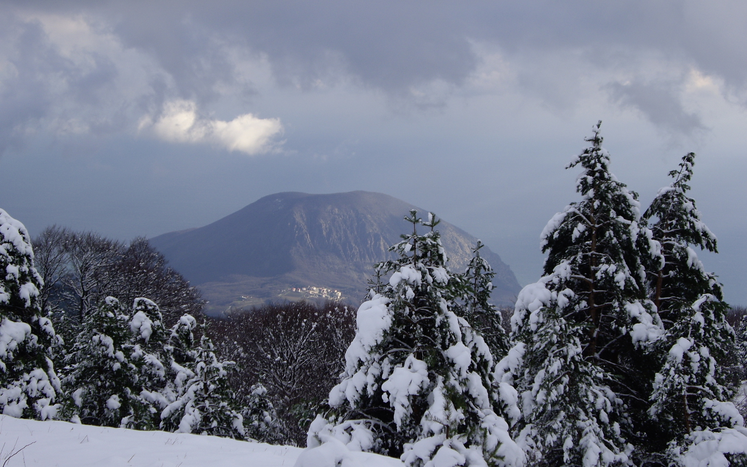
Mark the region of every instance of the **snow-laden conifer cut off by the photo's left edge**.
[[25, 226], [0, 209], [0, 409], [16, 418], [55, 418], [60, 380], [52, 362], [62, 344], [38, 300]]

